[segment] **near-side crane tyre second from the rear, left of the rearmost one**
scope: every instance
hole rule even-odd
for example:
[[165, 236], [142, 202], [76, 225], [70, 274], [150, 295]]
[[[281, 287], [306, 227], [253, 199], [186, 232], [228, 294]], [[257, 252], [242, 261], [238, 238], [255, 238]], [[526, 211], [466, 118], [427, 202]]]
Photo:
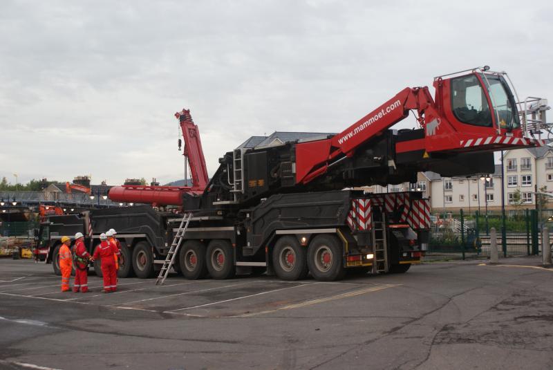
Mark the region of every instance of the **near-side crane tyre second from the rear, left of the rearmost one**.
[[309, 272], [306, 249], [294, 237], [281, 237], [272, 250], [272, 267], [280, 279], [305, 279]]

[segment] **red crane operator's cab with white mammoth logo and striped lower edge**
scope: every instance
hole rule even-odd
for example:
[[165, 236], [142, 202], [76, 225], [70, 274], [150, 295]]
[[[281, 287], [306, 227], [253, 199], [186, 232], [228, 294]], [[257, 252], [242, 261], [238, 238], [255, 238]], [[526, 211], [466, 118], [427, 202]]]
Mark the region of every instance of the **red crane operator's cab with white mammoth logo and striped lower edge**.
[[517, 107], [519, 100], [507, 73], [485, 66], [435, 77], [433, 86], [434, 104], [424, 114], [427, 152], [543, 145], [527, 136], [521, 122], [524, 112]]

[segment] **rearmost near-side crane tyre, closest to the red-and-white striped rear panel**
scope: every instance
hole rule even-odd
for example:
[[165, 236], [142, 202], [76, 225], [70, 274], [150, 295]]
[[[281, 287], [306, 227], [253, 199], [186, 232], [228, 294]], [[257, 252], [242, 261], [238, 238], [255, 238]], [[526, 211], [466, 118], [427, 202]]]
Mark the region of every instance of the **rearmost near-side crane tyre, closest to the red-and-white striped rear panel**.
[[311, 275], [319, 281], [343, 279], [346, 269], [342, 261], [341, 243], [334, 235], [319, 234], [309, 243], [307, 264]]

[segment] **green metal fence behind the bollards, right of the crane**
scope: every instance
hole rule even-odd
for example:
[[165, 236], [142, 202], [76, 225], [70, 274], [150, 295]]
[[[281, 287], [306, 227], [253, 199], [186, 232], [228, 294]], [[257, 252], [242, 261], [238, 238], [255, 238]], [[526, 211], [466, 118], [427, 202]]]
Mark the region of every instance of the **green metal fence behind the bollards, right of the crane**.
[[435, 213], [427, 258], [489, 257], [491, 228], [496, 228], [498, 248], [504, 257], [538, 255], [541, 229], [547, 226], [552, 230], [552, 220], [553, 210], [509, 210], [505, 216], [502, 212], [464, 210]]

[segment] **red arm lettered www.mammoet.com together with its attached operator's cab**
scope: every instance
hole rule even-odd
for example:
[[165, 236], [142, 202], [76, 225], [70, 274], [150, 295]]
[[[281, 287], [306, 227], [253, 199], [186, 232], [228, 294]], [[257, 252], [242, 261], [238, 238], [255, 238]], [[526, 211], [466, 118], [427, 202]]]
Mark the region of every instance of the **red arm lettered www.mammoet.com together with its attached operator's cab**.
[[[395, 153], [424, 153], [424, 158], [543, 145], [529, 138], [518, 121], [506, 73], [474, 68], [469, 74], [434, 80], [435, 100], [427, 86], [405, 88], [336, 136], [296, 146], [296, 182], [307, 184], [328, 167], [352, 158], [384, 131], [415, 111], [420, 135], [395, 145]], [[422, 159], [422, 158], [421, 158]], [[393, 164], [392, 164], [393, 165]]]

